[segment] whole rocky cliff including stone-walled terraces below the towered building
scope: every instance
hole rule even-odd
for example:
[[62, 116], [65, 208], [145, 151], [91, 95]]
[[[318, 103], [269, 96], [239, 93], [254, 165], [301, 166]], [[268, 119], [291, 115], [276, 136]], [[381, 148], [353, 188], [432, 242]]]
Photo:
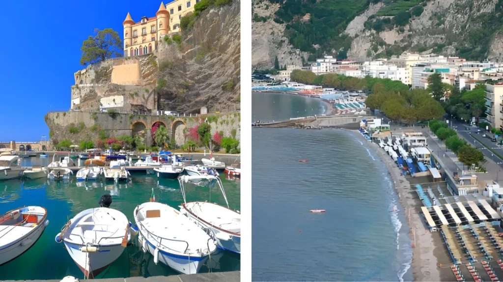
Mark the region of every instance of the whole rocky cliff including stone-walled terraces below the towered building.
[[75, 73], [71, 108], [199, 113], [239, 109], [239, 0], [203, 11], [182, 42], [158, 42], [152, 54], [113, 58]]

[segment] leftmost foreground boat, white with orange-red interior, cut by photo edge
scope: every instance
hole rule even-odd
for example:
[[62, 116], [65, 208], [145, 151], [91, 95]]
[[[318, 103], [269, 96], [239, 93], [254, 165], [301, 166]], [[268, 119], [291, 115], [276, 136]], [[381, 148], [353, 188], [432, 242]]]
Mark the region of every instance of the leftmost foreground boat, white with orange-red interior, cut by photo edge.
[[42, 235], [49, 221], [43, 207], [29, 206], [0, 216], [0, 265], [28, 250]]

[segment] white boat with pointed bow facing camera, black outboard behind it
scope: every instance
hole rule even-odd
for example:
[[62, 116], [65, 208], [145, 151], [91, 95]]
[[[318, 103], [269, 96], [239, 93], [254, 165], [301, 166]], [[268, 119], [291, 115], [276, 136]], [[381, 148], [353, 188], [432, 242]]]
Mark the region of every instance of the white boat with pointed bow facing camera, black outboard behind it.
[[130, 236], [122, 212], [100, 207], [75, 215], [56, 235], [56, 242], [64, 243], [86, 278], [95, 278], [122, 254]]

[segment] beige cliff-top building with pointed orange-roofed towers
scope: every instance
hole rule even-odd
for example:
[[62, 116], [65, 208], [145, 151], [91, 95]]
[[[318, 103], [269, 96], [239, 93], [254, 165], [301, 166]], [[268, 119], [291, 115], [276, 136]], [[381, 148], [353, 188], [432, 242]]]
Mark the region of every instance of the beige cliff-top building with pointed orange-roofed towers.
[[180, 20], [200, 0], [175, 0], [167, 5], [161, 2], [155, 17], [143, 16], [139, 22], [133, 21], [127, 13], [122, 23], [124, 27], [124, 57], [141, 56], [152, 53], [157, 42], [166, 34], [180, 32]]

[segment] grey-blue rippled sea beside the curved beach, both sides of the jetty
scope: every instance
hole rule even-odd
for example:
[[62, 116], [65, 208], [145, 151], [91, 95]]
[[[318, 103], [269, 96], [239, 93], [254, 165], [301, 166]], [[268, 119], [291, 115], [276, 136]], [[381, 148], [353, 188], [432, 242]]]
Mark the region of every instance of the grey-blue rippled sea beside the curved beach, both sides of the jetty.
[[[324, 110], [317, 99], [297, 98], [254, 93], [252, 111], [280, 120]], [[357, 137], [255, 127], [252, 150], [253, 280], [412, 280], [405, 216], [391, 211], [398, 197]], [[326, 213], [309, 213], [316, 208]]]

